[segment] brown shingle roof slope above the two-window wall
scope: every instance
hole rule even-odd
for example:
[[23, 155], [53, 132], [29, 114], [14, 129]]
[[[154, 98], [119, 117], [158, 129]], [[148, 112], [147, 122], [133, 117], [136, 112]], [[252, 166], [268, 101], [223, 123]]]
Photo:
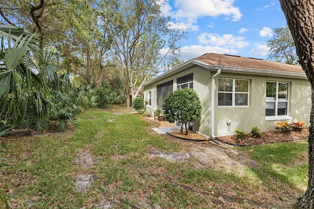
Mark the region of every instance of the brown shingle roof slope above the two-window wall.
[[194, 60], [198, 60], [209, 65], [305, 74], [299, 66], [228, 54], [206, 53]]

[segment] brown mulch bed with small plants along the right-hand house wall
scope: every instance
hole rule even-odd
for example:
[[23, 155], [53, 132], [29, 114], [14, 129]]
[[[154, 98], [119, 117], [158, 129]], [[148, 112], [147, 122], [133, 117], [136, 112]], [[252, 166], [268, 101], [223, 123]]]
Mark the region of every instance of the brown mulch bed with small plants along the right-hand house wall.
[[306, 139], [309, 136], [309, 129], [303, 129], [302, 131], [291, 131], [289, 133], [283, 133], [281, 131], [265, 131], [262, 132], [261, 138], [253, 138], [251, 134], [247, 134], [244, 140], [236, 139], [235, 135], [219, 136], [216, 139], [227, 144], [234, 146], [250, 146], [259, 144], [269, 144], [275, 142], [295, 141]]

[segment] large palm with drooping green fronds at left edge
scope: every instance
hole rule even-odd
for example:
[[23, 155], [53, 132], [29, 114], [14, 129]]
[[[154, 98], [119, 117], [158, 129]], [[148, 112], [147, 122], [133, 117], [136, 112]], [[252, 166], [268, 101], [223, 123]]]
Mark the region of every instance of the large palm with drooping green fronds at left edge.
[[0, 117], [19, 128], [43, 125], [51, 91], [35, 73], [35, 34], [0, 26], [0, 38]]

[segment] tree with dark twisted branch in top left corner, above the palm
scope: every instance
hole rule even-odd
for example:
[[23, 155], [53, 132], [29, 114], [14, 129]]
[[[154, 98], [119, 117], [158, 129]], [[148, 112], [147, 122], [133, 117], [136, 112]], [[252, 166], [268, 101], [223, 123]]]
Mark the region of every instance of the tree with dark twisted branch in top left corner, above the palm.
[[[69, 28], [66, 15], [73, 12], [70, 0], [0, 0], [1, 25], [14, 25], [37, 33], [44, 45], [66, 37]], [[60, 36], [61, 34], [61, 36]]]

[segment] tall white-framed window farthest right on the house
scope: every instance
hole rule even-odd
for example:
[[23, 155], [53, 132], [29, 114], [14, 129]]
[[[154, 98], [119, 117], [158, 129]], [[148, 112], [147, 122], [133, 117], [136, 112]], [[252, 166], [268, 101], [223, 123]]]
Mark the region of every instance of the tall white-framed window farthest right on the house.
[[266, 119], [289, 119], [289, 83], [278, 81], [266, 82]]

